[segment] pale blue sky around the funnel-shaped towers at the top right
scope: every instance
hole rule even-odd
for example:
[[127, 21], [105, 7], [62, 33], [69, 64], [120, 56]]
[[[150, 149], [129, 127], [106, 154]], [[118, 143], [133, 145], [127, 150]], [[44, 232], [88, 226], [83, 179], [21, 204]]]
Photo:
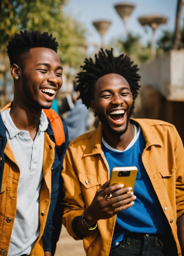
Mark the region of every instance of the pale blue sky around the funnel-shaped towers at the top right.
[[[151, 41], [151, 28], [145, 29], [137, 20], [138, 17], [147, 14], [160, 14], [168, 18], [167, 24], [161, 25], [155, 34], [156, 40], [161, 37], [163, 30], [174, 31], [177, 0], [127, 0], [126, 2], [136, 5], [129, 17], [127, 27], [128, 32], [139, 35], [141, 42], [146, 45]], [[125, 38], [125, 28], [123, 20], [117, 14], [114, 5], [121, 3], [118, 0], [69, 0], [65, 7], [68, 14], [83, 24], [87, 29], [86, 41], [100, 44], [101, 38], [94, 28], [92, 22], [95, 20], [110, 20], [111, 26], [104, 36], [105, 44], [112, 42], [115, 38]], [[182, 8], [181, 25], [183, 26], [184, 7]]]

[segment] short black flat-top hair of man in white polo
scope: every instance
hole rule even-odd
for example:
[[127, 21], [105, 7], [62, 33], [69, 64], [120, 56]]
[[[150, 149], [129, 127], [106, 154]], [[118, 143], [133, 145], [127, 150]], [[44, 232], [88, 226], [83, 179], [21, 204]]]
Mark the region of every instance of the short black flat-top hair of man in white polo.
[[29, 52], [31, 48], [35, 47], [50, 48], [57, 52], [58, 42], [48, 32], [42, 34], [38, 30], [32, 32], [24, 30], [24, 32], [20, 31], [20, 34], [15, 33], [15, 37], [11, 38], [7, 46], [10, 65], [17, 64], [21, 54]]

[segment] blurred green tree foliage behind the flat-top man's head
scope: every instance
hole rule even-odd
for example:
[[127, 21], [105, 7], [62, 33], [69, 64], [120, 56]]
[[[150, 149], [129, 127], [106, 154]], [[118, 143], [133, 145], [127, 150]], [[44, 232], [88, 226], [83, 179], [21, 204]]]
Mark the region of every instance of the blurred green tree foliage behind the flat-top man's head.
[[15, 32], [47, 31], [59, 42], [58, 55], [62, 64], [77, 67], [84, 54], [80, 50], [85, 40], [85, 29], [64, 14], [66, 0], [2, 0], [0, 3], [0, 47], [6, 49]]

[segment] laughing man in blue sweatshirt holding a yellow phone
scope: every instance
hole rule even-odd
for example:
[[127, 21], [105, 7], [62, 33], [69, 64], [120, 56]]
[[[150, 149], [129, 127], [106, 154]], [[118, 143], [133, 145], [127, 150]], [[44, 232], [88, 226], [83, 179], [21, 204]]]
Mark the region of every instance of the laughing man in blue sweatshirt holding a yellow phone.
[[[63, 224], [83, 239], [86, 255], [181, 255], [182, 140], [172, 124], [130, 118], [140, 88], [132, 64], [101, 49], [78, 73], [79, 98], [101, 125], [66, 151]], [[120, 178], [131, 166], [138, 169], [134, 188], [109, 185], [114, 167]]]

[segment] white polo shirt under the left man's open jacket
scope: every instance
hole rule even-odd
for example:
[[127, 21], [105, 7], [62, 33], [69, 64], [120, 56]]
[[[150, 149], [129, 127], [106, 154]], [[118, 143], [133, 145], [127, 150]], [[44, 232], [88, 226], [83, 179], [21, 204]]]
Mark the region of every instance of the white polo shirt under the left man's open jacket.
[[29, 255], [40, 233], [39, 192], [43, 179], [44, 131], [48, 120], [42, 110], [39, 130], [33, 141], [28, 131], [19, 130], [10, 109], [1, 112], [6, 136], [20, 168], [17, 210], [8, 256]]

